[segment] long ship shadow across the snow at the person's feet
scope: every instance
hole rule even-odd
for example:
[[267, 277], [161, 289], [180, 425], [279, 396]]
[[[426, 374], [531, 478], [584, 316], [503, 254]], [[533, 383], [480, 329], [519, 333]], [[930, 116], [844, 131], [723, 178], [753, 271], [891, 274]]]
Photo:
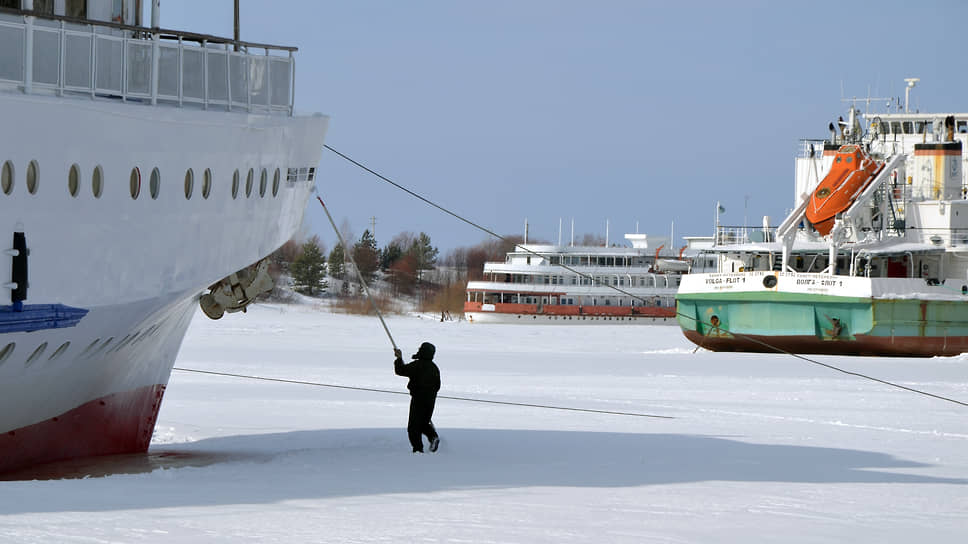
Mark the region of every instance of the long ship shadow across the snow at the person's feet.
[[[90, 486], [91, 492], [108, 488], [116, 499], [78, 504], [69, 499], [51, 500], [49, 493], [36, 490], [35, 495], [31, 491], [36, 488], [24, 488], [20, 491], [27, 493], [19, 509], [50, 512], [258, 504], [475, 488], [629, 487], [702, 481], [968, 483], [961, 478], [898, 473], [931, 465], [872, 451], [754, 444], [686, 434], [440, 431], [440, 451], [425, 455], [409, 452], [402, 429], [385, 428], [237, 435], [159, 446], [147, 455], [116, 456], [103, 463], [92, 460], [79, 471], [59, 476], [87, 476], [89, 479], [70, 485]], [[69, 466], [77, 468], [76, 464]], [[118, 478], [131, 473], [141, 475]], [[57, 477], [56, 471], [48, 475]], [[8, 484], [0, 483], [0, 488], [4, 485]]]

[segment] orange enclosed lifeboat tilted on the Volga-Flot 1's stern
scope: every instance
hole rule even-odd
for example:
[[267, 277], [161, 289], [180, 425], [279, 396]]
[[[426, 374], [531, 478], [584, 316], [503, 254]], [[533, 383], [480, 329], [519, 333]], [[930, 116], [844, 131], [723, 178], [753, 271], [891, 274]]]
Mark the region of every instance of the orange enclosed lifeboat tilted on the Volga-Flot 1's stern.
[[860, 146], [841, 146], [807, 205], [807, 220], [813, 228], [823, 236], [830, 234], [837, 214], [850, 207], [882, 168], [884, 163], [867, 156]]

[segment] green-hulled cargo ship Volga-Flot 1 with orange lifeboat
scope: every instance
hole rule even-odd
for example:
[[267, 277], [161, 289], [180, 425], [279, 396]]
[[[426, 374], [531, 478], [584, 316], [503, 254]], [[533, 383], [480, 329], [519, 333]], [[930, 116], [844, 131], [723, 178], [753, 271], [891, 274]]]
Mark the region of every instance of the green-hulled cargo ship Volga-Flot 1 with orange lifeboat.
[[713, 351], [968, 351], [966, 143], [968, 114], [852, 107], [839, 134], [804, 141], [779, 227], [717, 225], [700, 259], [718, 272], [684, 275], [676, 296], [686, 337]]

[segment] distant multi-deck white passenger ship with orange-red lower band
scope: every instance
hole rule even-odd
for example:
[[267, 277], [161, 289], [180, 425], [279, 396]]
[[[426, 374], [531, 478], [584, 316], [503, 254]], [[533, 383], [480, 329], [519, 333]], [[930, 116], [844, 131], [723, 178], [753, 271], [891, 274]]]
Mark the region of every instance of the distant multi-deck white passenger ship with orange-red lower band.
[[665, 240], [625, 238], [632, 247], [516, 246], [467, 283], [464, 315], [472, 323], [676, 324], [688, 261], [663, 255]]

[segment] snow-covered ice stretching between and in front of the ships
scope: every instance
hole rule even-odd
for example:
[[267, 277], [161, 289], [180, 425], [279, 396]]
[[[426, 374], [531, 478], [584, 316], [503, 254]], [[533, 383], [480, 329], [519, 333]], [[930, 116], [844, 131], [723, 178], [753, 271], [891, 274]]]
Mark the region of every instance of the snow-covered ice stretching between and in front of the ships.
[[[437, 345], [437, 454], [405, 395], [175, 371], [148, 456], [0, 482], [3, 542], [964, 542], [968, 408], [675, 327], [388, 318]], [[177, 367], [405, 391], [373, 317], [199, 314]], [[968, 400], [963, 357], [817, 357]], [[67, 469], [65, 469], [67, 470]], [[69, 471], [68, 471], [69, 472]], [[105, 475], [105, 473], [107, 473]]]

